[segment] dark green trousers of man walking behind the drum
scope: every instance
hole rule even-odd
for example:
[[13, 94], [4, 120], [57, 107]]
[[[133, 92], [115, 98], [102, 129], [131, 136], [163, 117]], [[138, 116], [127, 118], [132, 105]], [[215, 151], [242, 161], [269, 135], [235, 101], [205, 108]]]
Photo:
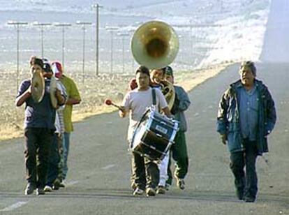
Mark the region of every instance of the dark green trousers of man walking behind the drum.
[[[186, 149], [186, 136], [182, 131], [178, 131], [175, 137], [175, 144], [170, 148], [170, 155], [176, 161], [175, 177], [184, 179], [188, 173], [188, 152]], [[171, 156], [170, 156], [171, 157]], [[167, 184], [172, 185], [172, 171], [170, 170], [171, 158], [168, 163], [168, 180]]]

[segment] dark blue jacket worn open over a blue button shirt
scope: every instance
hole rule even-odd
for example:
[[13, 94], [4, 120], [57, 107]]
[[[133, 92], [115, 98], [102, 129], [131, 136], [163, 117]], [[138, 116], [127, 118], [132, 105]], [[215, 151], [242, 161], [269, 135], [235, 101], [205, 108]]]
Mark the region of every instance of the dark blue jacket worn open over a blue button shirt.
[[[217, 131], [220, 134], [227, 134], [228, 149], [230, 152], [243, 150], [243, 138], [239, 124], [239, 105], [237, 100], [237, 86], [241, 80], [230, 84], [230, 87], [223, 94], [218, 105]], [[258, 92], [258, 129], [257, 149], [258, 154], [268, 151], [267, 135], [271, 133], [276, 123], [276, 110], [274, 101], [269, 90], [260, 80], [255, 80]]]

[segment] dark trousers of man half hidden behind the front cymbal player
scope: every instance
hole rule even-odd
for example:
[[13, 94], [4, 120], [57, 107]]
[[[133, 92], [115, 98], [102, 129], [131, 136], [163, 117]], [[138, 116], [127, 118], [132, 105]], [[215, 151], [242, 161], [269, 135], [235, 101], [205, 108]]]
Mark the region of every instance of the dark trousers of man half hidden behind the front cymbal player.
[[48, 163], [48, 173], [47, 173], [47, 182], [48, 186], [52, 186], [55, 179], [57, 179], [59, 175], [59, 142], [61, 142], [61, 138], [58, 133], [54, 133], [52, 145], [50, 147], [50, 157]]

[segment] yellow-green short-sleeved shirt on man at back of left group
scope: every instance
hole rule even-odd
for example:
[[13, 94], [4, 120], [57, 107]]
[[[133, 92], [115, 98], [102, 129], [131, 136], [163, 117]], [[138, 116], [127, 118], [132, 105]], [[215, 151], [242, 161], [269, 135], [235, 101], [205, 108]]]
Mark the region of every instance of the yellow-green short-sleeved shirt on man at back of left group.
[[[62, 75], [60, 79], [61, 83], [64, 84], [66, 89], [67, 99], [73, 98], [76, 100], [80, 100], [80, 92], [77, 89], [75, 82], [65, 75]], [[73, 123], [72, 123], [72, 111], [73, 105], [66, 104], [64, 107], [64, 128], [65, 132], [71, 133], [73, 131]]]

